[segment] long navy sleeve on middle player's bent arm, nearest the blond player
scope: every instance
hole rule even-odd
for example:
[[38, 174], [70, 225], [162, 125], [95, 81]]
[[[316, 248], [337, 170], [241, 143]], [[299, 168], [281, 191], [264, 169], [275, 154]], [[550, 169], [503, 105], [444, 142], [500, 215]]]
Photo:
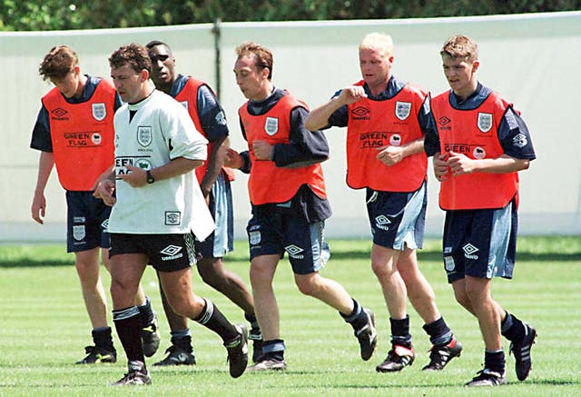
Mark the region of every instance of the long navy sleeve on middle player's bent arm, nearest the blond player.
[[329, 158], [329, 143], [320, 131], [305, 128], [309, 112], [304, 107], [291, 110], [291, 131], [288, 144], [275, 144], [272, 160], [277, 167], [306, 166]]

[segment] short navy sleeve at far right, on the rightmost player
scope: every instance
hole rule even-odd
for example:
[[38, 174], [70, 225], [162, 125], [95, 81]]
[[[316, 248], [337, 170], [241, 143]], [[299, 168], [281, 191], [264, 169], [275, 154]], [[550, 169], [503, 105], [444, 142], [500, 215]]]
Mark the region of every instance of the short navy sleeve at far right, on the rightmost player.
[[512, 106], [502, 116], [498, 125], [498, 140], [505, 154], [517, 159], [535, 160], [535, 148], [527, 124]]

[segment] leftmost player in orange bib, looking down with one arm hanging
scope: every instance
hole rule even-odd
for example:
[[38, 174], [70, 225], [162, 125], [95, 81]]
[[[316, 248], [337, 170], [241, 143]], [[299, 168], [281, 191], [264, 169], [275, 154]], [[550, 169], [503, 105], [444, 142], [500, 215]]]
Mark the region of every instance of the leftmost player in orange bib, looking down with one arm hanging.
[[[44, 56], [39, 73], [54, 88], [45, 94], [36, 117], [30, 147], [41, 152], [31, 207], [32, 217], [43, 224], [44, 188], [56, 166], [66, 191], [67, 252], [81, 281], [84, 304], [93, 326], [94, 346], [79, 364], [115, 362], [107, 305], [99, 275], [99, 251], [109, 270], [107, 220], [111, 209], [93, 197], [95, 181], [113, 164], [113, 114], [121, 106], [113, 85], [100, 77], [81, 73], [78, 56], [58, 45]], [[155, 314], [149, 298], [137, 289], [135, 303], [142, 313], [143, 348], [153, 355], [159, 346]]]

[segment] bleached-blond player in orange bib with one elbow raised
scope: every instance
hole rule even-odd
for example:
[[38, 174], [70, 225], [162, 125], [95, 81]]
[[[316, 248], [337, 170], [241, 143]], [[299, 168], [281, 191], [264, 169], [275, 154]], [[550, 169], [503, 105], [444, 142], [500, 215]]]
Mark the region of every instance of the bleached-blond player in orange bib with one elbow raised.
[[391, 73], [393, 42], [372, 33], [359, 44], [363, 80], [337, 92], [307, 116], [310, 129], [347, 126], [347, 184], [366, 189], [377, 276], [391, 325], [391, 349], [378, 372], [397, 372], [415, 359], [407, 298], [432, 343], [425, 371], [444, 369], [462, 345], [438, 312], [435, 294], [419, 270], [427, 203], [428, 161], [423, 151], [428, 94]]

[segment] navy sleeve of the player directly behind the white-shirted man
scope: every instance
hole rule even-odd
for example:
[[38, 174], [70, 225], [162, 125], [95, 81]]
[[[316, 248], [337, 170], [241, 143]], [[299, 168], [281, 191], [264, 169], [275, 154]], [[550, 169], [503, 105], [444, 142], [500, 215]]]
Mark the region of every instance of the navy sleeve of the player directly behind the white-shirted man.
[[198, 117], [202, 124], [203, 133], [208, 141], [213, 142], [218, 138], [228, 136], [226, 114], [218, 102], [218, 98], [207, 85], [201, 85], [198, 89]]

